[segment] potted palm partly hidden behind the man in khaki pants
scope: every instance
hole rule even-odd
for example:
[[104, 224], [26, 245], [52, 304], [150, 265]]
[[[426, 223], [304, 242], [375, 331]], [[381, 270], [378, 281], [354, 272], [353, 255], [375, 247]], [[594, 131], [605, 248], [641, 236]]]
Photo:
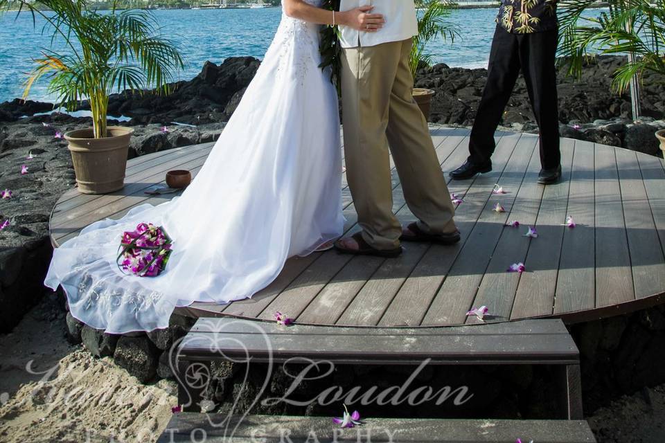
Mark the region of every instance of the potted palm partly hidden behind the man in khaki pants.
[[[414, 37], [414, 46], [411, 48], [409, 66], [411, 73], [416, 78], [418, 69], [427, 68], [432, 62], [432, 55], [427, 53], [427, 44], [436, 37], [443, 40], [450, 38], [454, 42], [459, 37], [459, 29], [445, 19], [450, 15], [450, 10], [456, 5], [449, 0], [417, 0], [418, 8], [418, 35]], [[432, 89], [414, 88], [414, 99], [420, 110], [429, 120], [429, 109], [432, 104]]]

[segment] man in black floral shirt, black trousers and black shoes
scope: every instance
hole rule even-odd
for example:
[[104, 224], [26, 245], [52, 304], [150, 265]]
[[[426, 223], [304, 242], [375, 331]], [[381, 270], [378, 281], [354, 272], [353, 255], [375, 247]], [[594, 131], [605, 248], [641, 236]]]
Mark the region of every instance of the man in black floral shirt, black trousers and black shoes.
[[561, 177], [558, 98], [556, 93], [556, 0], [502, 0], [490, 50], [487, 83], [478, 106], [469, 143], [470, 156], [450, 172], [469, 179], [490, 172], [494, 133], [522, 71], [531, 108], [540, 128], [538, 183], [556, 183]]

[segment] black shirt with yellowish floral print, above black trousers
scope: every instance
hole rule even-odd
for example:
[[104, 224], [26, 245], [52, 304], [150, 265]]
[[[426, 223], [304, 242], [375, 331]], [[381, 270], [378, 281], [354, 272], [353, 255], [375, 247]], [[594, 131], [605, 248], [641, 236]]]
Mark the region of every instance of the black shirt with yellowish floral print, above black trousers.
[[509, 33], [531, 34], [558, 27], [557, 0], [501, 0], [497, 23]]

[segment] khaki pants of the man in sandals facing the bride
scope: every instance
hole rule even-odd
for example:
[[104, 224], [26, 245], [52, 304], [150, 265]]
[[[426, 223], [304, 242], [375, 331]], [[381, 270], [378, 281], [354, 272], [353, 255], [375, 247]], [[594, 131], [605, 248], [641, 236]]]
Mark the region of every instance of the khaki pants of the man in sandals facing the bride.
[[402, 233], [392, 211], [389, 145], [420, 228], [430, 233], [456, 230], [427, 121], [412, 96], [410, 51], [408, 39], [346, 48], [342, 56], [346, 178], [363, 238], [378, 249], [396, 248]]

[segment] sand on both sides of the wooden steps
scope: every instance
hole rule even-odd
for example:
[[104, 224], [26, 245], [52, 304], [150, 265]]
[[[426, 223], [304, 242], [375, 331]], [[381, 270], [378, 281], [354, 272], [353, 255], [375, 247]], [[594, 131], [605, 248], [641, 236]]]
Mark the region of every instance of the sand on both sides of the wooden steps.
[[[177, 404], [175, 383], [142, 385], [112, 359], [69, 345], [54, 304], [45, 300], [0, 336], [0, 442], [157, 440]], [[600, 443], [665, 442], [665, 385], [587, 418]]]

